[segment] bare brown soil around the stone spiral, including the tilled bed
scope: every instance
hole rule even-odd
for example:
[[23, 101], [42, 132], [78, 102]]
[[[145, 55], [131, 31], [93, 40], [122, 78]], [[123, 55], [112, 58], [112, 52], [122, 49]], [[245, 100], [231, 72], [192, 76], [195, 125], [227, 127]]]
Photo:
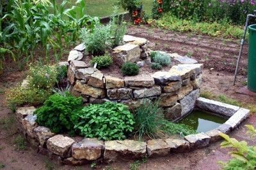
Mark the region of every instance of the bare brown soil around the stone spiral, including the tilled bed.
[[[156, 43], [153, 50], [176, 52], [180, 55], [188, 55], [204, 63], [203, 91], [213, 94], [225, 94], [243, 103], [256, 104], [255, 97], [237, 94], [236, 90], [243, 87], [246, 81], [246, 53], [242, 57], [237, 84], [232, 85], [236, 56], [239, 52], [239, 40], [210, 38], [193, 34], [180, 34], [161, 29], [152, 29], [147, 26], [129, 27], [129, 34], [147, 38]], [[244, 49], [247, 49], [245, 46]], [[7, 72], [0, 77], [0, 120], [10, 118], [13, 113], [6, 107], [4, 101], [4, 89], [12, 87], [25, 77], [23, 72]], [[0, 122], [1, 123], [1, 122]], [[256, 125], [256, 115], [248, 118], [243, 124]], [[243, 125], [232, 132], [231, 136], [239, 140], [246, 140], [250, 145], [256, 145], [256, 141], [244, 136], [246, 129]], [[54, 160], [49, 160], [40, 155], [29, 146], [26, 150], [17, 150], [15, 138], [19, 135], [15, 124], [9, 129], [1, 129], [0, 126], [0, 169], [92, 169], [90, 165], [83, 167], [61, 166]], [[229, 157], [228, 150], [220, 148], [220, 142], [211, 146], [195, 150], [189, 153], [179, 153], [155, 159], [147, 159], [143, 164], [139, 162], [115, 162], [108, 165], [96, 166], [98, 169], [220, 169], [219, 160], [225, 161]]]

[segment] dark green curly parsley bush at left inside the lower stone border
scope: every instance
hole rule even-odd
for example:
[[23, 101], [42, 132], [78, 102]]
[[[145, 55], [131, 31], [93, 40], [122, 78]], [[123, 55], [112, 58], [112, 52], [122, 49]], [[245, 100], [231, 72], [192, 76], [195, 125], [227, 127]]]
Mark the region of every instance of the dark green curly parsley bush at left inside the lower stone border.
[[81, 97], [73, 97], [68, 92], [64, 96], [54, 94], [35, 111], [36, 122], [48, 127], [54, 133], [74, 133], [76, 112], [82, 109], [82, 104]]

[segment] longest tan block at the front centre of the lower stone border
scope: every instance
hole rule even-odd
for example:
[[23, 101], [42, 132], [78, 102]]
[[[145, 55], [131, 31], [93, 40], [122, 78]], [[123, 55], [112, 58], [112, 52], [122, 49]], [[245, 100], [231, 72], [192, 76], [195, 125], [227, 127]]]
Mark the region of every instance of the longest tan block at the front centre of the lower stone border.
[[105, 141], [104, 160], [111, 162], [117, 159], [140, 159], [147, 155], [147, 143], [143, 141]]

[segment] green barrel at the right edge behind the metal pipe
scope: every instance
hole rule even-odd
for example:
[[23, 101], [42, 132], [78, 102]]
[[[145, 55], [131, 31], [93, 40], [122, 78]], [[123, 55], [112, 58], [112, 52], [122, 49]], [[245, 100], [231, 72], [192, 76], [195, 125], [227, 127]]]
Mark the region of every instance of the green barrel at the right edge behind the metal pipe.
[[248, 89], [256, 92], [256, 24], [250, 25], [248, 52]]

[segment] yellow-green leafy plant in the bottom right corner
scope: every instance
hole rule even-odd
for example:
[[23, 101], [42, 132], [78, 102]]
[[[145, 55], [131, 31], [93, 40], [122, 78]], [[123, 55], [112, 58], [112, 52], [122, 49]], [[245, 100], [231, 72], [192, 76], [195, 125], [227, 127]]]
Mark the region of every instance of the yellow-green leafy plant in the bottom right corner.
[[[247, 134], [250, 136], [256, 135], [256, 130], [252, 125], [246, 125], [248, 128]], [[248, 146], [246, 141], [237, 141], [237, 139], [230, 138], [227, 134], [220, 134], [225, 139], [221, 143], [221, 148], [232, 148], [230, 153], [231, 160], [228, 162], [219, 162], [223, 169], [248, 169], [256, 168], [256, 146]]]

